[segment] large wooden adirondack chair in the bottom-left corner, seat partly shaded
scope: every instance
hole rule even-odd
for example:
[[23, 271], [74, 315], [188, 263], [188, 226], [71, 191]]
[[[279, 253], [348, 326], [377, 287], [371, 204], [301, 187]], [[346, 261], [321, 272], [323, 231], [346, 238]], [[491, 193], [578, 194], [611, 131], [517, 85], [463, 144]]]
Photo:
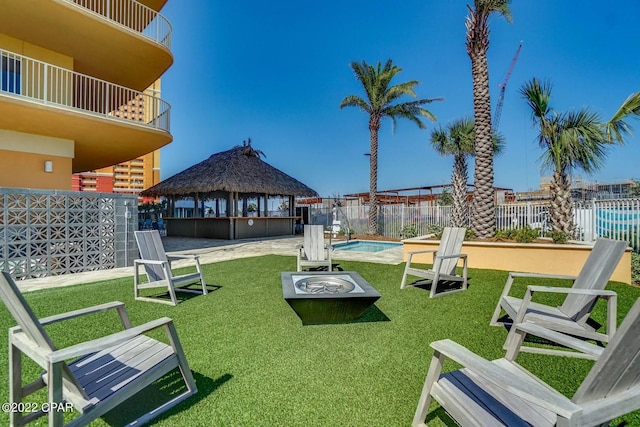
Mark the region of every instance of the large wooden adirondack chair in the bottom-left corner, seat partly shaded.
[[[197, 392], [175, 326], [167, 317], [132, 326], [124, 304], [114, 301], [38, 320], [8, 273], [0, 275], [0, 298], [18, 323], [9, 329], [9, 402], [18, 404], [24, 397], [46, 387], [49, 407], [55, 409], [26, 415], [11, 412], [12, 426], [24, 425], [45, 415], [49, 426], [62, 426], [64, 411], [60, 409], [69, 410], [69, 405], [80, 413], [69, 426], [89, 424], [175, 368], [180, 370], [186, 391], [143, 415], [136, 423], [149, 421]], [[58, 349], [43, 327], [111, 309], [118, 311], [123, 331], [70, 347]], [[158, 328], [166, 331], [169, 345], [145, 335]], [[23, 353], [45, 371], [38, 380], [24, 386]]]

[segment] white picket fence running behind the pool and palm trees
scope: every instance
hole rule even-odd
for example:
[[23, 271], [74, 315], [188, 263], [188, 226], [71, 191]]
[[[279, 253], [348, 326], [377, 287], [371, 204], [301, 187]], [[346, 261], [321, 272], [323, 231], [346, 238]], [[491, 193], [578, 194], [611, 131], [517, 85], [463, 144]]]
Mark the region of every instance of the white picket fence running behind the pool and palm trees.
[[[469, 215], [470, 217], [471, 215]], [[628, 241], [640, 250], [640, 199], [593, 200], [576, 202], [573, 209], [575, 238], [593, 241], [610, 237]], [[364, 234], [369, 223], [369, 207], [340, 207], [311, 209], [311, 223], [330, 226], [340, 221], [356, 234]], [[401, 238], [403, 230], [427, 234], [429, 227], [451, 224], [450, 206], [384, 205], [379, 207], [378, 232], [387, 237]], [[549, 206], [546, 203], [509, 203], [496, 206], [498, 230], [528, 225], [544, 231], [551, 230]]]

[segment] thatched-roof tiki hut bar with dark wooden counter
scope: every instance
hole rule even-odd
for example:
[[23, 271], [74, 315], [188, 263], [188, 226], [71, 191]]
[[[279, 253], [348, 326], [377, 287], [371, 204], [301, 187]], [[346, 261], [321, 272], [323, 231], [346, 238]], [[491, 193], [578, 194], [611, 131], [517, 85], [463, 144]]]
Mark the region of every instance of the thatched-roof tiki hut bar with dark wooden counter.
[[[249, 139], [141, 195], [166, 198], [169, 236], [244, 239], [291, 235], [299, 220], [295, 197], [315, 197], [318, 193], [264, 162], [262, 156]], [[193, 215], [177, 217], [176, 201], [185, 199], [193, 201]], [[205, 208], [205, 202], [209, 208]]]

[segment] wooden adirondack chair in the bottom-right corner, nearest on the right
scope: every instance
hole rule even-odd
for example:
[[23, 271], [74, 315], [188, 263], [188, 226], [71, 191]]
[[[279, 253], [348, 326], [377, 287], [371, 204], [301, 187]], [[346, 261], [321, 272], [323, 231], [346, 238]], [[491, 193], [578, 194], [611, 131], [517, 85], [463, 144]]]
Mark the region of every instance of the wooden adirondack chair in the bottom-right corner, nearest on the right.
[[[640, 409], [638, 328], [640, 300], [571, 399], [514, 361], [524, 334], [511, 342], [504, 359], [492, 362], [451, 340], [434, 342], [413, 425], [425, 426], [432, 398], [462, 426], [609, 425], [610, 420]], [[463, 368], [441, 375], [445, 358]]]

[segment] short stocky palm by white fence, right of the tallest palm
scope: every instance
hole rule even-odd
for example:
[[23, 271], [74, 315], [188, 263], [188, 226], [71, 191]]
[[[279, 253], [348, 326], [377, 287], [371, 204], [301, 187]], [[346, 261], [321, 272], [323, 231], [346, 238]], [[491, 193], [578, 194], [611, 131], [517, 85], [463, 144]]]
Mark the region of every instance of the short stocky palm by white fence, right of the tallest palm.
[[542, 167], [553, 170], [549, 207], [551, 228], [572, 236], [570, 174], [576, 169], [587, 174], [597, 171], [603, 165], [609, 147], [616, 142], [623, 143], [625, 136], [630, 135], [631, 126], [625, 119], [629, 115], [640, 116], [640, 92], [627, 98], [606, 123], [587, 108], [567, 113], [553, 110], [549, 105], [549, 82], [533, 78], [523, 85], [520, 93], [531, 108], [533, 123], [540, 128], [538, 143], [544, 150]]

